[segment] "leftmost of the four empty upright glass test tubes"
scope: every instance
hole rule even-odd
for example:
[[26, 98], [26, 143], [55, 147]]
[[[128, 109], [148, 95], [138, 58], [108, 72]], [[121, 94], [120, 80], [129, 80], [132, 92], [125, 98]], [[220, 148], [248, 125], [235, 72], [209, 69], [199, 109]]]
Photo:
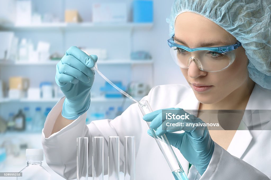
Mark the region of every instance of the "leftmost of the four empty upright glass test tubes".
[[77, 180], [88, 180], [88, 138], [77, 138]]

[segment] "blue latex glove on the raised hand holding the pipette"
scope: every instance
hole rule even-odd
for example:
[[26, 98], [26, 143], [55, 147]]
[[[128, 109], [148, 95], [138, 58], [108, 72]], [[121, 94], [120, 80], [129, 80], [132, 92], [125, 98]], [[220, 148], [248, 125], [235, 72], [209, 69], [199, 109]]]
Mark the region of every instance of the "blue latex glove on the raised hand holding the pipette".
[[72, 46], [57, 63], [56, 83], [66, 96], [62, 109], [63, 117], [74, 120], [88, 110], [95, 74], [90, 68], [97, 59], [96, 55], [88, 56], [78, 47]]

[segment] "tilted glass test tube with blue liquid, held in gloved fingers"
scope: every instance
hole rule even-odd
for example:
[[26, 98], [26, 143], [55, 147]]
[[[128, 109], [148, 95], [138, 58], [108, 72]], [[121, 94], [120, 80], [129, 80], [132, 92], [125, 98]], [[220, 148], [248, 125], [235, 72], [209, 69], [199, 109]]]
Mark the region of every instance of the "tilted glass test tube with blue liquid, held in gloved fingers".
[[[150, 104], [148, 101], [141, 101], [138, 104], [143, 116], [153, 112], [153, 110], [150, 107]], [[150, 128], [150, 122], [147, 122], [149, 128]], [[166, 135], [162, 135], [161, 137], [156, 136], [155, 130], [150, 128], [155, 141], [157, 142], [162, 154], [164, 155], [164, 158], [166, 159], [166, 162], [176, 180], [188, 180], [185, 172], [183, 171], [183, 168], [176, 157], [171, 145], [169, 144], [169, 141], [167, 140]]]

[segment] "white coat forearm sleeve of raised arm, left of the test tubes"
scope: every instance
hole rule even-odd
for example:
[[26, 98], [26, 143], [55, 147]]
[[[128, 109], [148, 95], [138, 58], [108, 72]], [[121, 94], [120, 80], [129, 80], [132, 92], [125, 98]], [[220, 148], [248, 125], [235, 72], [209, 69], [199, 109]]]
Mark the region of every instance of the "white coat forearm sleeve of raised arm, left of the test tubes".
[[65, 179], [76, 178], [76, 138], [88, 137], [85, 125], [86, 113], [71, 124], [51, 135], [54, 123], [62, 111], [64, 97], [57, 102], [48, 114], [42, 130], [41, 143], [46, 163]]

